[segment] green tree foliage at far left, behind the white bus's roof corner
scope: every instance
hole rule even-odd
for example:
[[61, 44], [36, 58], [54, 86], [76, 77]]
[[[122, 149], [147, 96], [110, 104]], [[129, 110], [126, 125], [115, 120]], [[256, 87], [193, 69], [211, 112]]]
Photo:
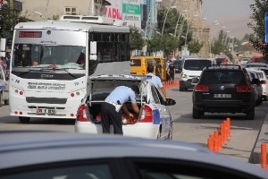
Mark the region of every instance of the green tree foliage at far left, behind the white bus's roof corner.
[[2, 9], [0, 11], [0, 38], [6, 38], [6, 46], [12, 46], [13, 40], [13, 29], [16, 24], [23, 21], [28, 21], [26, 15], [13, 10], [13, 7], [9, 7], [9, 4], [2, 4]]

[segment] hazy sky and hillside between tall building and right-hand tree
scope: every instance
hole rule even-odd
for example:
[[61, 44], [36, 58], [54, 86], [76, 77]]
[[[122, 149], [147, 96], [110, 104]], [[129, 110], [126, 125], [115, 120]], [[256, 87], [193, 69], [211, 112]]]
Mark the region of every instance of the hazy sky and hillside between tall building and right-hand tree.
[[[203, 0], [203, 18], [210, 27], [210, 35], [220, 30], [230, 31], [229, 37], [243, 38], [245, 34], [252, 33], [247, 27], [252, 12], [249, 5], [255, 0]], [[215, 26], [213, 21], [220, 24]], [[222, 29], [222, 27], [225, 27]]]

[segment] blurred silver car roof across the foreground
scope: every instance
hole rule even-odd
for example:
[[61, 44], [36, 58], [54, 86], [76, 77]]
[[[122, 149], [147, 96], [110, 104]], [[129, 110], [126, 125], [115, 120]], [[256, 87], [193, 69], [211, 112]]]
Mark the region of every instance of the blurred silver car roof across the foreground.
[[[107, 149], [108, 152], [107, 152]], [[92, 158], [170, 158], [224, 166], [267, 176], [263, 169], [182, 141], [52, 131], [0, 132], [0, 170]]]

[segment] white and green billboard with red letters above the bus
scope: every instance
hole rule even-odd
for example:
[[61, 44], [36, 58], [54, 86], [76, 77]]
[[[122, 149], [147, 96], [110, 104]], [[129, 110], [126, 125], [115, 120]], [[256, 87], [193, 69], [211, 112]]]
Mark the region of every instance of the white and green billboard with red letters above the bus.
[[140, 0], [107, 0], [105, 15], [116, 20], [127, 21], [128, 25], [141, 28]]

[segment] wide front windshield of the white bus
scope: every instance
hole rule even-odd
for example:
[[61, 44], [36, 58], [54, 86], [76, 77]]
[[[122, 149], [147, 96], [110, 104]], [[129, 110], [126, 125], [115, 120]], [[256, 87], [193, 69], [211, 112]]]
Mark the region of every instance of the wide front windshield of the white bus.
[[15, 44], [13, 67], [85, 69], [86, 47]]

